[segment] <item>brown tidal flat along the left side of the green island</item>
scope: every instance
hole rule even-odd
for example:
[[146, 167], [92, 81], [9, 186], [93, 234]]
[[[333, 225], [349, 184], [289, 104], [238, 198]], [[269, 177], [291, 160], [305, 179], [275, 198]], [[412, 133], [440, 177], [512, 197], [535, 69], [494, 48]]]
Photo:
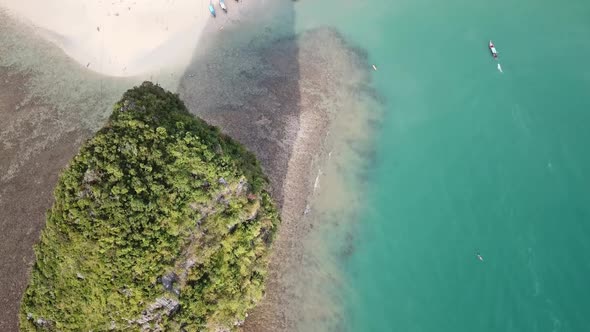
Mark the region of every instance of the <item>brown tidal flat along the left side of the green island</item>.
[[[27, 78], [0, 68], [0, 330], [16, 331], [18, 306], [28, 280], [33, 244], [44, 223], [57, 175], [88, 131], [63, 130], [55, 108], [22, 103]], [[7, 111], [18, 110], [18, 114]]]

